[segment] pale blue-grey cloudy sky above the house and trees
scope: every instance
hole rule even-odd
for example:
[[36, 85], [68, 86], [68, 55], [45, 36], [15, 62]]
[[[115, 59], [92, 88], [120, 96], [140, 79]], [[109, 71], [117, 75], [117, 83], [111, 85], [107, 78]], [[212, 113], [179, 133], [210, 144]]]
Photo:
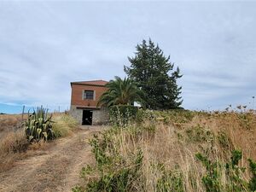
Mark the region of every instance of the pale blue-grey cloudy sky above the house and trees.
[[0, 113], [70, 106], [70, 82], [124, 78], [151, 38], [183, 78], [183, 108], [253, 108], [256, 1], [0, 2]]

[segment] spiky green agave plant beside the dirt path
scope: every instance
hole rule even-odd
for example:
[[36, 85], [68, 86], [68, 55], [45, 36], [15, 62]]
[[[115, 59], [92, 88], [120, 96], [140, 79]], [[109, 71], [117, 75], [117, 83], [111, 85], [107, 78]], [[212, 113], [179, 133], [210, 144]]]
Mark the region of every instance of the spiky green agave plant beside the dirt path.
[[48, 114], [48, 109], [37, 108], [33, 113], [28, 112], [28, 117], [25, 122], [26, 138], [30, 142], [38, 142], [41, 139], [45, 141], [55, 137], [52, 130], [52, 115]]

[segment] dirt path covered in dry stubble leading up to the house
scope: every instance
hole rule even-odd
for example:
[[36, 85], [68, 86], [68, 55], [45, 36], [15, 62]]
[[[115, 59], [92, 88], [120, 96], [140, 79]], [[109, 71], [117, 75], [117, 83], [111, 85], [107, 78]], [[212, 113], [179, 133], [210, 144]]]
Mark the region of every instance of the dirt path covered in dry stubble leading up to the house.
[[0, 191], [71, 191], [79, 182], [81, 168], [92, 160], [88, 138], [100, 130], [79, 130], [58, 139], [49, 149], [16, 162], [8, 172], [0, 173]]

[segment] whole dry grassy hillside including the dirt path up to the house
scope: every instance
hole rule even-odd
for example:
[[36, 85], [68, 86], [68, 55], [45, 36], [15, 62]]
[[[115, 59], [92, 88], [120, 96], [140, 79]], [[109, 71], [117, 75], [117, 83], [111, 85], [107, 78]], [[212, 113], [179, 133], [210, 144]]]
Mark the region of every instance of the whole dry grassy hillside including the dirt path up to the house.
[[63, 138], [30, 146], [19, 115], [0, 118], [0, 191], [252, 191], [253, 113], [146, 110], [106, 130], [56, 114]]

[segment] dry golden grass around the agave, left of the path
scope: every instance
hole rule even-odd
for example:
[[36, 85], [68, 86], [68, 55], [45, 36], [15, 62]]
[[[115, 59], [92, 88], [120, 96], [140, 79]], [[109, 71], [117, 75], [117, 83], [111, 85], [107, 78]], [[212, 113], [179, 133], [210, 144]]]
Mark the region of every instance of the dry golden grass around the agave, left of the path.
[[[24, 116], [26, 118], [26, 115]], [[66, 137], [77, 128], [75, 120], [64, 113], [55, 113], [53, 117], [56, 137]], [[48, 144], [42, 142], [28, 143], [21, 126], [20, 114], [0, 115], [0, 172], [12, 167], [16, 160], [26, 158], [26, 150], [44, 150]]]

